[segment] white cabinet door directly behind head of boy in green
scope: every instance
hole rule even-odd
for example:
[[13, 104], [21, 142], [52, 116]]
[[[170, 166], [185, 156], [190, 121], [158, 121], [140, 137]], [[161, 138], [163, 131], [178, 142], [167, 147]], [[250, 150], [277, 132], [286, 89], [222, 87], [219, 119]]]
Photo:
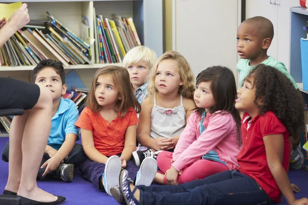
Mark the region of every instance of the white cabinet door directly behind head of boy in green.
[[[277, 59], [277, 13], [278, 6], [271, 4], [275, 0], [246, 0], [246, 19], [254, 16], [263, 16], [271, 20], [274, 25], [274, 38], [271, 46], [267, 50], [267, 55], [271, 55]], [[289, 1], [289, 0], [285, 0]], [[276, 0], [276, 4], [277, 0]]]

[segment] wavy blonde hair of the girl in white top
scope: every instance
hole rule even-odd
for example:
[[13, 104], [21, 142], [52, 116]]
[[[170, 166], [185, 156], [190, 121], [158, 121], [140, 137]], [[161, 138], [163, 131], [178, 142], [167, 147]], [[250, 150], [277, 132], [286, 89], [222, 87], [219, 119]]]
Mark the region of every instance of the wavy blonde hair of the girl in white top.
[[174, 60], [178, 64], [179, 68], [179, 75], [181, 79], [183, 80], [183, 85], [179, 88], [179, 94], [183, 95], [184, 97], [187, 97], [189, 99], [194, 99], [194, 93], [196, 90], [195, 86], [195, 77], [194, 73], [192, 73], [192, 70], [188, 64], [188, 61], [184, 58], [183, 55], [181, 55], [177, 51], [168, 51], [165, 52], [160, 58], [157, 60], [155, 66], [150, 71], [150, 74], [148, 75], [148, 91], [147, 91], [147, 97], [152, 98], [156, 92], [157, 89], [155, 87], [155, 77], [158, 65], [162, 60]]

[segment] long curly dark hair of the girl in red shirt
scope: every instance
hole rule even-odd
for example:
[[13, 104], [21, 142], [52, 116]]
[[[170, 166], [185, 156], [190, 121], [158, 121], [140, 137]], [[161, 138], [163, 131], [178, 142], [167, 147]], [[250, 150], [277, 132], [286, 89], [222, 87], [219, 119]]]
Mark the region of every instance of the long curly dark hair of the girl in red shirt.
[[[271, 66], [259, 64], [246, 78], [254, 78], [256, 97], [254, 103], [260, 114], [273, 111], [287, 131], [296, 139], [304, 128], [304, 104], [290, 79]], [[257, 103], [257, 99], [262, 99]]]

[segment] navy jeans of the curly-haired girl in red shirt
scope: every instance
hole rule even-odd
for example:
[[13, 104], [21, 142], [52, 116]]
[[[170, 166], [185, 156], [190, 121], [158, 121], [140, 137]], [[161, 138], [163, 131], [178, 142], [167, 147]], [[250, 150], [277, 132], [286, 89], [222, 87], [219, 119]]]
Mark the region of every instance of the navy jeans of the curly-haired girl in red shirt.
[[225, 171], [177, 186], [138, 186], [140, 204], [272, 204], [251, 177]]

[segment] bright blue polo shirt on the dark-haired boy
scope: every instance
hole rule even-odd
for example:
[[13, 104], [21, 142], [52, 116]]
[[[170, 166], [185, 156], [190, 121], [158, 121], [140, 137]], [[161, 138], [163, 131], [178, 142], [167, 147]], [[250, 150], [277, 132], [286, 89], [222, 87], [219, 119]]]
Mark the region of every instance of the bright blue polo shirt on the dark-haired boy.
[[47, 145], [55, 150], [59, 150], [65, 141], [68, 133], [74, 133], [79, 140], [79, 128], [75, 127], [75, 122], [79, 116], [75, 103], [70, 99], [61, 98], [60, 106], [52, 117], [51, 130]]

